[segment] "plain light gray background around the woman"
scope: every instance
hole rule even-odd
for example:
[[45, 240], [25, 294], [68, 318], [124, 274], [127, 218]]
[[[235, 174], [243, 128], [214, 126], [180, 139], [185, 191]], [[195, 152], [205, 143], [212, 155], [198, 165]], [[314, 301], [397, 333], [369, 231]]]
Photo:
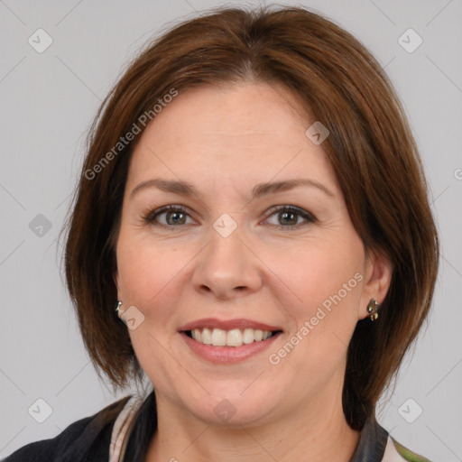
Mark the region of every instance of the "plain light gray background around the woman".
[[[0, 457], [131, 393], [114, 396], [97, 380], [64, 289], [57, 237], [90, 121], [128, 60], [153, 34], [217, 5], [0, 0]], [[379, 421], [430, 459], [462, 460], [462, 2], [301, 5], [353, 32], [391, 77], [425, 163], [442, 241], [429, 328], [402, 365]], [[39, 28], [53, 41], [42, 53], [28, 42]], [[423, 40], [411, 53], [399, 42], [409, 28]], [[417, 38], [402, 40], [411, 46]], [[50, 229], [40, 228], [39, 214]], [[36, 421], [46, 412], [39, 398], [52, 409], [43, 423]], [[34, 418], [31, 406], [41, 410], [31, 411]]]

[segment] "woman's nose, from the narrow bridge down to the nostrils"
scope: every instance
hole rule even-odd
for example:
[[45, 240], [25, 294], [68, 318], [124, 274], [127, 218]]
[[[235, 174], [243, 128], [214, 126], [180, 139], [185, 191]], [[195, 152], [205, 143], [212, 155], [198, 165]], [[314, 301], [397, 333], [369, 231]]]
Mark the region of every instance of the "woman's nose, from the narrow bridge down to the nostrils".
[[193, 283], [198, 291], [212, 291], [217, 297], [233, 292], [256, 291], [261, 285], [258, 259], [245, 245], [243, 226], [223, 214], [210, 228], [209, 243], [199, 254]]

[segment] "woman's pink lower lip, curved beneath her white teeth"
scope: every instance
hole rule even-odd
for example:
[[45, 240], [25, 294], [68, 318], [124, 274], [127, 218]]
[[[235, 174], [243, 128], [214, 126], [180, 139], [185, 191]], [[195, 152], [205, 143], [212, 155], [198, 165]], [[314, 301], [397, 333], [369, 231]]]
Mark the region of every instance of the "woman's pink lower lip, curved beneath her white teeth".
[[263, 352], [266, 348], [273, 345], [273, 342], [281, 335], [281, 332], [273, 335], [273, 337], [261, 342], [253, 342], [243, 344], [241, 347], [214, 347], [213, 345], [205, 345], [197, 342], [191, 337], [188, 337], [184, 332], [180, 332], [180, 336], [186, 342], [186, 345], [198, 356], [207, 359], [211, 363], [238, 363], [245, 359]]

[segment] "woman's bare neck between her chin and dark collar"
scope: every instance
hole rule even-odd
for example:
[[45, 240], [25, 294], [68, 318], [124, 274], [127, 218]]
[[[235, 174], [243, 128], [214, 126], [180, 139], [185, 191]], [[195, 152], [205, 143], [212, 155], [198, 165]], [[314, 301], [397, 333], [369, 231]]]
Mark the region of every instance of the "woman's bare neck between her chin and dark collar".
[[[157, 399], [158, 427], [146, 462], [278, 462], [310, 460], [348, 462], [360, 433], [345, 420], [341, 399], [327, 406], [310, 404], [286, 412], [269, 423], [219, 426], [198, 420]], [[294, 412], [297, 415], [294, 415]]]

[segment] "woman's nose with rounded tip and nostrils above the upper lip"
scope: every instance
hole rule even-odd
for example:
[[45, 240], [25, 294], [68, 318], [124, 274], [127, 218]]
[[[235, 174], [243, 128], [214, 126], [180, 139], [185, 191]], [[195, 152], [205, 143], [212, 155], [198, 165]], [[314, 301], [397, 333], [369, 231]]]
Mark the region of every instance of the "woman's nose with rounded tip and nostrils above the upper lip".
[[239, 227], [226, 237], [212, 228], [210, 242], [199, 253], [194, 268], [194, 289], [220, 300], [258, 291], [262, 286], [263, 268], [251, 248]]

